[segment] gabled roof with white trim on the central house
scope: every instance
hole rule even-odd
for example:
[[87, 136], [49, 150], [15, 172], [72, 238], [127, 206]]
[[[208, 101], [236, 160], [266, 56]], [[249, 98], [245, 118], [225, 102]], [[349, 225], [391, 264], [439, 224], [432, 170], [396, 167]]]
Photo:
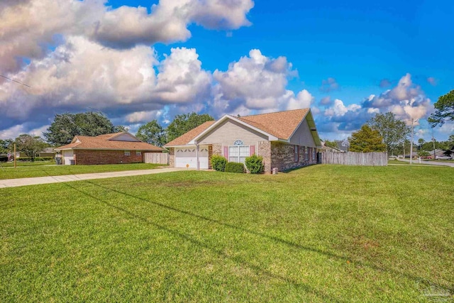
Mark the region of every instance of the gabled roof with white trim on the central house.
[[195, 144], [197, 139], [216, 128], [218, 124], [226, 119], [231, 119], [249, 128], [253, 128], [255, 131], [269, 136], [270, 141], [289, 141], [301, 123], [306, 120], [309, 123], [309, 128], [316, 145], [321, 145], [319, 133], [316, 131], [314, 119], [312, 118], [311, 109], [294, 109], [291, 111], [278, 111], [275, 113], [243, 117], [224, 115], [218, 121], [209, 121], [201, 124], [201, 126], [192, 129], [183, 136], [167, 143], [165, 146]]

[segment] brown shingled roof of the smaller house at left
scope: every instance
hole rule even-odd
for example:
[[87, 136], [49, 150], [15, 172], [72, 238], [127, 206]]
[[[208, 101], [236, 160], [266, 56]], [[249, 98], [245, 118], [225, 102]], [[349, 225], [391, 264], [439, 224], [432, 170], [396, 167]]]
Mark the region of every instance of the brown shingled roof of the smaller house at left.
[[[72, 142], [67, 145], [55, 148], [55, 150], [68, 150], [68, 149], [84, 149], [84, 150], [152, 150], [162, 151], [163, 148], [159, 148], [155, 145], [145, 143], [142, 141], [118, 141], [114, 140], [116, 136], [124, 134], [121, 133], [108, 133], [106, 135], [100, 135], [96, 137], [90, 136], [75, 136]], [[135, 138], [130, 133], [127, 133], [132, 138]], [[110, 139], [110, 140], [109, 140]]]

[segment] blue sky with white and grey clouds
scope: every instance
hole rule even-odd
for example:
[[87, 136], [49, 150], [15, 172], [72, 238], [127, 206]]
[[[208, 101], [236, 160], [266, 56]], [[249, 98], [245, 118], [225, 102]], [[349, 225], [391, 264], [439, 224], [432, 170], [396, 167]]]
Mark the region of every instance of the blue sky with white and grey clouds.
[[426, 119], [454, 89], [453, 17], [452, 0], [2, 0], [0, 138], [65, 112], [135, 133], [310, 107], [322, 139], [392, 111], [444, 141], [454, 123]]

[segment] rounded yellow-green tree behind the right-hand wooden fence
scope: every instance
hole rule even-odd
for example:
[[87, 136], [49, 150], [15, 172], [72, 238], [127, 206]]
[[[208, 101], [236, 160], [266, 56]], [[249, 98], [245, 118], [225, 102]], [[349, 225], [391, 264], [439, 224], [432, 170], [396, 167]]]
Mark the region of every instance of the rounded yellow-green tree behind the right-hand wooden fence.
[[350, 151], [359, 153], [382, 152], [386, 151], [386, 144], [379, 131], [372, 130], [370, 126], [364, 124], [359, 131], [352, 133], [348, 138]]

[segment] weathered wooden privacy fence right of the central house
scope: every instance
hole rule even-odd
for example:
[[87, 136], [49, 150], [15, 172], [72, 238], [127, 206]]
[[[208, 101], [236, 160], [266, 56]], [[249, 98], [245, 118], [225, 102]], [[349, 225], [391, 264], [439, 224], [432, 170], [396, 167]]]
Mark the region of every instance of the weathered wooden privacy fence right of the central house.
[[323, 164], [363, 165], [363, 166], [387, 166], [388, 153], [322, 153]]

